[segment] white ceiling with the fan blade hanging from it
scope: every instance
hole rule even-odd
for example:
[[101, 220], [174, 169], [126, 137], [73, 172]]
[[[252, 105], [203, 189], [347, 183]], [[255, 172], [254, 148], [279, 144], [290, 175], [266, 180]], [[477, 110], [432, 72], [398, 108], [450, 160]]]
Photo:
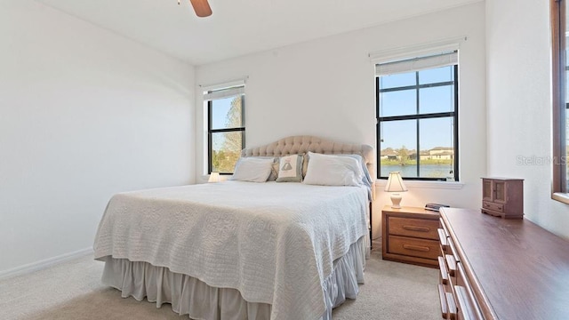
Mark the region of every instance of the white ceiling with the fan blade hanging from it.
[[202, 65], [483, 0], [209, 0], [208, 18], [188, 0], [36, 1]]

